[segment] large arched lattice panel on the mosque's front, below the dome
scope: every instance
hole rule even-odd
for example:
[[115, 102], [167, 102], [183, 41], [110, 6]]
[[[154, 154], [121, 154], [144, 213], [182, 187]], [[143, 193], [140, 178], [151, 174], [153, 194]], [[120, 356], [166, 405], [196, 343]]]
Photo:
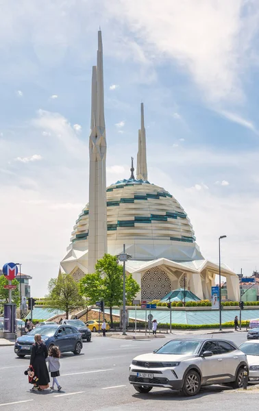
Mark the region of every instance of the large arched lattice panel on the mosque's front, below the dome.
[[143, 300], [162, 299], [171, 291], [171, 281], [160, 267], [147, 270], [141, 279], [141, 298]]

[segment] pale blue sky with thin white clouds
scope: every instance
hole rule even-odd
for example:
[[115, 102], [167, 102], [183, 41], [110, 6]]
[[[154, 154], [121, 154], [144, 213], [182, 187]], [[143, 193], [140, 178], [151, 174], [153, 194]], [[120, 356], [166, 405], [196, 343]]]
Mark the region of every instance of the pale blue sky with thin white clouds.
[[[148, 179], [204, 257], [244, 275], [259, 251], [256, 0], [8, 0], [0, 13], [0, 265], [32, 296], [58, 275], [88, 202], [90, 86], [103, 36], [107, 185], [130, 177], [140, 102]], [[136, 167], [136, 162], [135, 162]]]

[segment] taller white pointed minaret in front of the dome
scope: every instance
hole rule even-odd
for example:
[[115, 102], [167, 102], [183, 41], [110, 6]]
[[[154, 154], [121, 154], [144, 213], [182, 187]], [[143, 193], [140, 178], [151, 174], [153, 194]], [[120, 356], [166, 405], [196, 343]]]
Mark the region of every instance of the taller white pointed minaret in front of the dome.
[[106, 125], [103, 101], [103, 44], [98, 32], [97, 66], [92, 75], [91, 134], [89, 138], [88, 273], [107, 253]]

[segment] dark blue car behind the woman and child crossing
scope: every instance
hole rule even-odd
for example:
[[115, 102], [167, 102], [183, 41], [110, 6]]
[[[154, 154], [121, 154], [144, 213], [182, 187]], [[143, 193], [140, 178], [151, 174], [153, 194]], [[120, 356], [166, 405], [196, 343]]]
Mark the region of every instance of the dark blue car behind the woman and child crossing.
[[76, 356], [82, 350], [83, 341], [82, 334], [75, 327], [69, 325], [42, 325], [40, 329], [34, 328], [28, 332], [26, 336], [18, 337], [14, 344], [14, 352], [18, 357], [29, 356], [34, 343], [34, 335], [42, 336], [42, 341], [47, 345], [47, 348], [58, 345], [62, 353], [72, 351]]

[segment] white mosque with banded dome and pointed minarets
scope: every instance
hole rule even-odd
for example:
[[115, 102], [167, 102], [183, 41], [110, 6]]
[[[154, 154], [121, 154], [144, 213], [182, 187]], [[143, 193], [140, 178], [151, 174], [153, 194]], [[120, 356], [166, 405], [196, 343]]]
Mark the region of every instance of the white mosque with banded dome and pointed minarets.
[[[103, 103], [103, 46], [98, 32], [97, 66], [93, 66], [89, 138], [89, 203], [73, 227], [60, 272], [77, 280], [95, 271], [104, 253], [132, 255], [126, 272], [140, 285], [136, 298], [162, 299], [186, 286], [200, 299], [211, 299], [219, 266], [201, 254], [193, 226], [180, 203], [164, 188], [149, 182], [141, 103], [136, 178], [131, 175], [106, 188], [106, 126]], [[129, 173], [130, 174], [130, 173]], [[127, 177], [127, 176], [123, 176]], [[239, 301], [239, 280], [225, 264], [227, 298]]]

